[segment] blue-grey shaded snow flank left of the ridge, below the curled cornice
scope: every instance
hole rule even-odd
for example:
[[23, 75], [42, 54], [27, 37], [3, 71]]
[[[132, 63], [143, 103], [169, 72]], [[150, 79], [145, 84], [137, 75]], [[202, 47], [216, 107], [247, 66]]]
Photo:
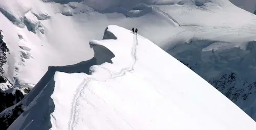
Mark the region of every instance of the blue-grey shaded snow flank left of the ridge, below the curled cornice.
[[[9, 114], [15, 111], [15, 106], [7, 108], [5, 111], [0, 113], [1, 117], [5, 117], [6, 126], [12, 124], [20, 114], [22, 116], [18, 117], [14, 124], [19, 124], [19, 129], [49, 129], [51, 128], [50, 114], [54, 111], [54, 102], [51, 99], [51, 94], [54, 91], [55, 81], [53, 79], [56, 71], [66, 72], [66, 73], [88, 73], [89, 67], [96, 65], [96, 59], [91, 59], [89, 61], [83, 61], [75, 65], [68, 66], [50, 66], [47, 73], [42, 77], [42, 79], [35, 85], [32, 91], [18, 102], [15, 106], [22, 106], [18, 111], [24, 111], [23, 113], [16, 113], [16, 115]], [[39, 112], [40, 111], [40, 112]], [[39, 113], [38, 113], [39, 112]], [[37, 119], [33, 116], [37, 115]], [[25, 116], [25, 117], [23, 117]], [[4, 119], [3, 119], [4, 120]], [[23, 120], [24, 123], [20, 124], [19, 121]], [[42, 123], [43, 122], [43, 123]], [[3, 124], [4, 124], [3, 123]], [[38, 124], [41, 124], [38, 126]], [[8, 129], [13, 129], [13, 126], [10, 126]], [[16, 129], [16, 128], [14, 128]]]

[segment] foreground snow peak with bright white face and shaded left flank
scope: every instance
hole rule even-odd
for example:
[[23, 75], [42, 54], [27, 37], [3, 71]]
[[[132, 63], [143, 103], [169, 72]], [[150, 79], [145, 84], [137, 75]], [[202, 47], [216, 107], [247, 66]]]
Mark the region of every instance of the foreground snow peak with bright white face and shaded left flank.
[[49, 67], [8, 129], [256, 129], [232, 101], [150, 40], [109, 25], [90, 45], [95, 65], [88, 74], [71, 71], [90, 62], [62, 72]]

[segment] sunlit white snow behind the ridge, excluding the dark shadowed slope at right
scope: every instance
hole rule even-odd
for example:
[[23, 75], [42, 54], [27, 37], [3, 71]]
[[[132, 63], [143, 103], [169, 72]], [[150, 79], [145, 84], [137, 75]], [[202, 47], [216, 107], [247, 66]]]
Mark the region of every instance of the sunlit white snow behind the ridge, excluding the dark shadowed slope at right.
[[195, 38], [233, 43], [227, 48], [256, 39], [255, 15], [227, 0], [8, 0], [0, 1], [0, 12], [11, 51], [6, 75], [20, 84], [35, 85], [48, 66], [91, 59], [89, 41], [101, 40], [109, 24], [138, 28], [165, 50]]

